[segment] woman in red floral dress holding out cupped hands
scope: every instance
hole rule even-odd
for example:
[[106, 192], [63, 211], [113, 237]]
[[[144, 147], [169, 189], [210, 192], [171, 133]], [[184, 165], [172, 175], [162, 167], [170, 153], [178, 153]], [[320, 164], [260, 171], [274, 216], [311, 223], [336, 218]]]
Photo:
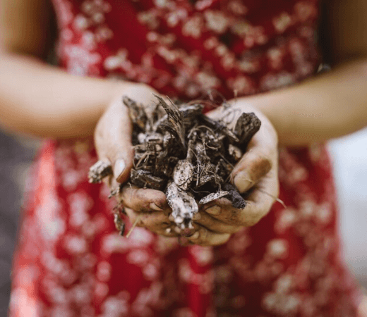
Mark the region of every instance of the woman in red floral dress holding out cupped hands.
[[[325, 1], [334, 69], [308, 80], [320, 63], [316, 0], [53, 4], [61, 69], [42, 62], [49, 2], [1, 2], [1, 124], [55, 139], [34, 169], [11, 316], [356, 316], [330, 164], [315, 144], [366, 125], [366, 1]], [[252, 189], [248, 205], [204, 206], [185, 247], [167, 230], [164, 194], [125, 187], [128, 218], [144, 228], [119, 237], [108, 189], [85, 178], [97, 159], [90, 135], [112, 181], [126, 182], [121, 96], [150, 104], [152, 93], [194, 99], [209, 89], [263, 122], [232, 173], [241, 192]], [[278, 193], [287, 207], [272, 207]]]

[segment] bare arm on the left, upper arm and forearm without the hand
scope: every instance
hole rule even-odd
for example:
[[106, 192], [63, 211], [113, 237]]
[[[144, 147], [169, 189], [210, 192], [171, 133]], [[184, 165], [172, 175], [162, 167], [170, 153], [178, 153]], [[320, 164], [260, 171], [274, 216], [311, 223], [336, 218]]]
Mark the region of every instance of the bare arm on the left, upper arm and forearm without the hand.
[[0, 1], [0, 125], [40, 137], [92, 135], [116, 93], [131, 84], [76, 77], [42, 62], [48, 0]]

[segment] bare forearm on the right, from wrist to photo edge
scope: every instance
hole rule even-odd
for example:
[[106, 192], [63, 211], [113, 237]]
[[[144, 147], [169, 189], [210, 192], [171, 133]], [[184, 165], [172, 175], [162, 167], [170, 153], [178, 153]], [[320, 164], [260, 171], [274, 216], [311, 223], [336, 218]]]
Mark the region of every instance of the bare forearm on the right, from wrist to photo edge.
[[270, 119], [279, 144], [301, 146], [347, 135], [367, 125], [367, 61], [345, 63], [294, 87], [237, 100]]

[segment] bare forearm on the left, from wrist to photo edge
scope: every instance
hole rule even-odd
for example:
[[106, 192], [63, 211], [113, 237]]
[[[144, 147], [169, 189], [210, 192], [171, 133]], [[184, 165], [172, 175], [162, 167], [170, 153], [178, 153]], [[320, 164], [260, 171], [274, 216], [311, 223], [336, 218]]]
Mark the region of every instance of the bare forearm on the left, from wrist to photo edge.
[[104, 108], [128, 83], [69, 75], [36, 58], [0, 56], [0, 124], [38, 137], [92, 135]]

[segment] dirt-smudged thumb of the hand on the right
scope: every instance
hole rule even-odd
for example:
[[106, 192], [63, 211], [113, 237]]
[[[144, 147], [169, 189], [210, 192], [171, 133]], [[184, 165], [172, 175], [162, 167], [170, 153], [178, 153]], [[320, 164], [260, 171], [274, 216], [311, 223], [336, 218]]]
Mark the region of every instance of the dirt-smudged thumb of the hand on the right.
[[246, 192], [253, 187], [272, 168], [272, 158], [269, 149], [253, 140], [249, 143], [248, 151], [243, 154], [242, 159], [236, 164], [231, 173], [234, 185], [239, 192]]

